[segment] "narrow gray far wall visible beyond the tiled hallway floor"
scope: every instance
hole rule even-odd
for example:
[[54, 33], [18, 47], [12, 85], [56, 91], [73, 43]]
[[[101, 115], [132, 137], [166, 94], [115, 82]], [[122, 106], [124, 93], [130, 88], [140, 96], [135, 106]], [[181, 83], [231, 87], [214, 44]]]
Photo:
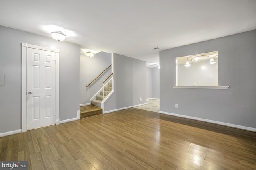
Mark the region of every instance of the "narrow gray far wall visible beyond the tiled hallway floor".
[[159, 80], [159, 70], [158, 67], [151, 68], [152, 69], [152, 98], [159, 99], [160, 98], [160, 80]]

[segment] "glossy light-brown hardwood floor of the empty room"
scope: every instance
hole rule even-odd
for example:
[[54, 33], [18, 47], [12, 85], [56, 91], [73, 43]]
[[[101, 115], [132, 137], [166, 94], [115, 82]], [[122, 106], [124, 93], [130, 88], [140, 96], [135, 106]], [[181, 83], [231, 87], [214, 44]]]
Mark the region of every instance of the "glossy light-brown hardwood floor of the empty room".
[[256, 169], [256, 133], [125, 109], [0, 138], [32, 170]]

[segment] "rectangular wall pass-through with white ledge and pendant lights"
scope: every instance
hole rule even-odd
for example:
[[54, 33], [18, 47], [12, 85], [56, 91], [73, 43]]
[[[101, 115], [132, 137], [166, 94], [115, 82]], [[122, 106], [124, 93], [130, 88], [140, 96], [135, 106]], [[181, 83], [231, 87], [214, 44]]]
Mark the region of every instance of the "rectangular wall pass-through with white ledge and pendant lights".
[[218, 84], [218, 51], [176, 57], [173, 88], [227, 89]]

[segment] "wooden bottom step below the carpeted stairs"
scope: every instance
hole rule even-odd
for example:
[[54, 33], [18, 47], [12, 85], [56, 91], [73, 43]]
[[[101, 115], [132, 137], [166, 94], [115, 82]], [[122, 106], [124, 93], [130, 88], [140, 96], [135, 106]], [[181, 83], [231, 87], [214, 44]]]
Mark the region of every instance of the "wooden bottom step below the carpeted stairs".
[[102, 114], [103, 111], [100, 107], [94, 105], [80, 106], [80, 119]]

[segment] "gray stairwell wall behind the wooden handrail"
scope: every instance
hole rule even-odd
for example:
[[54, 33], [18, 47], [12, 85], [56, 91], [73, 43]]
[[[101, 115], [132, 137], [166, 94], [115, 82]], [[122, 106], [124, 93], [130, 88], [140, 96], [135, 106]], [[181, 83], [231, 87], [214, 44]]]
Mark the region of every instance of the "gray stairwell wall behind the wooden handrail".
[[111, 67], [90, 86], [86, 86], [110, 65], [110, 53], [100, 52], [93, 57], [80, 54], [80, 104], [90, 103], [92, 96], [102, 88], [102, 82], [111, 74]]

